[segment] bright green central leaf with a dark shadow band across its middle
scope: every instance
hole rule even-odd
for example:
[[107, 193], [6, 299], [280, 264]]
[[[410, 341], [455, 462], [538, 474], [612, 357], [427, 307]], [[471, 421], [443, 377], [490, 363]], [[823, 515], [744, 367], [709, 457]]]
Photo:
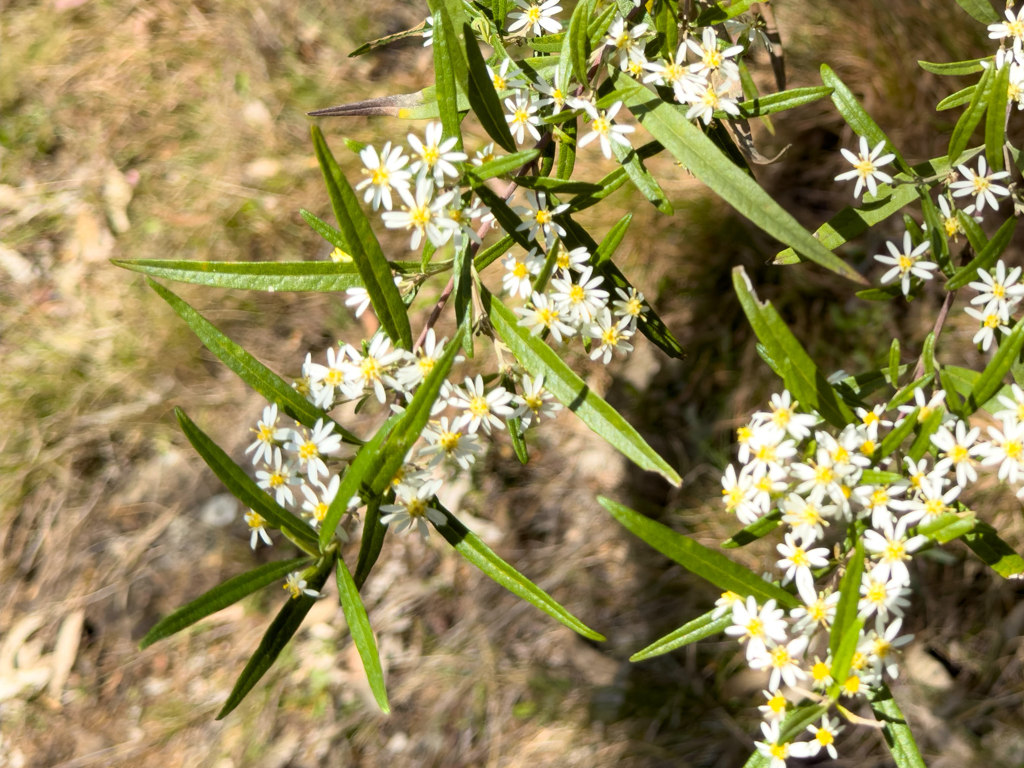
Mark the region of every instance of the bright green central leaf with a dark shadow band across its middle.
[[481, 288], [480, 301], [509, 350], [530, 376], [544, 376], [544, 387], [598, 435], [641, 469], [657, 472], [673, 485], [681, 478], [672, 466], [620, 416], [591, 391], [583, 379], [543, 340], [530, 335], [500, 299]]

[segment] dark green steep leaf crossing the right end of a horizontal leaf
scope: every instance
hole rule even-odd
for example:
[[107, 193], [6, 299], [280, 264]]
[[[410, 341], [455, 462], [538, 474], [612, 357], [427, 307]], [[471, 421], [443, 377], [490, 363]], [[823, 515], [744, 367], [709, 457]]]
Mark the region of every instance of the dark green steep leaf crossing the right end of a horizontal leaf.
[[384, 258], [380, 243], [370, 227], [370, 221], [359, 207], [355, 193], [349, 186], [337, 161], [331, 154], [324, 134], [312, 126], [313, 146], [331, 198], [331, 207], [345, 242], [345, 252], [351, 255], [359, 271], [377, 318], [395, 346], [413, 348], [413, 332], [401, 294], [394, 285], [391, 267]]

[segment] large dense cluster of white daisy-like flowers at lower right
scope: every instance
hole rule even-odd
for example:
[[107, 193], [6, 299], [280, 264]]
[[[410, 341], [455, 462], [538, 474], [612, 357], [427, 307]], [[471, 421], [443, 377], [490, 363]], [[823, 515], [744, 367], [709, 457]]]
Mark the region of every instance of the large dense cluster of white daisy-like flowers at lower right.
[[[793, 700], [783, 686], [825, 700], [834, 684], [841, 696], [854, 697], [897, 677], [895, 651], [911, 639], [900, 634], [911, 595], [907, 562], [933, 544], [921, 531], [943, 516], [968, 514], [958, 497], [981, 468], [994, 469], [999, 480], [1024, 480], [1024, 390], [1014, 385], [1010, 391], [998, 398], [999, 426], [987, 428], [988, 439], [946, 413], [943, 390], [926, 396], [921, 388], [895, 409], [858, 409], [859, 423], [842, 430], [801, 413], [783, 391], [739, 428], [739, 468], [729, 465], [722, 477], [725, 508], [744, 525], [767, 518], [783, 527], [775, 566], [780, 584], [793, 583], [801, 601], [788, 614], [774, 600], [758, 604], [730, 592], [716, 603], [716, 616], [731, 614], [726, 634], [745, 644], [749, 665], [770, 673], [761, 707], [766, 741], [759, 745], [766, 755], [783, 762], [816, 755], [831, 743], [819, 729], [837, 732], [826, 718], [810, 729], [811, 741], [779, 744], [777, 723]], [[934, 464], [895, 458], [900, 446], [886, 444], [887, 433], [905, 420], [923, 425], [936, 414], [941, 425], [930, 437]], [[1024, 487], [1018, 496], [1024, 497]], [[849, 675], [833, 680], [828, 632], [840, 597], [836, 587], [852, 564], [847, 556], [857, 538], [866, 554], [858, 615], [870, 629], [861, 631]]]

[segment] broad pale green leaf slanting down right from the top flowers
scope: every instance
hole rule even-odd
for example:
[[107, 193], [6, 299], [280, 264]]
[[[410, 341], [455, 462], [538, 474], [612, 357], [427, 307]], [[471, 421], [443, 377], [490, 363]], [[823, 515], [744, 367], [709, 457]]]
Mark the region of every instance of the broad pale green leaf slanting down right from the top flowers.
[[743, 216], [806, 258], [845, 278], [866, 285], [856, 269], [825, 249], [757, 181], [725, 157], [703, 131], [686, 120], [680, 108], [663, 101], [628, 75], [614, 71], [616, 88], [630, 111], [654, 138], [698, 179]]

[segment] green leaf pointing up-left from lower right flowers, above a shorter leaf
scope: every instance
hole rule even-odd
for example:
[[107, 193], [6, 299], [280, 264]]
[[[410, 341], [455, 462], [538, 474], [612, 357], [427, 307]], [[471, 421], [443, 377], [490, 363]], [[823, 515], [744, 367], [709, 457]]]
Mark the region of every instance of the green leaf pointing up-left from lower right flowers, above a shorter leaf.
[[799, 605], [797, 598], [788, 592], [769, 584], [722, 553], [708, 549], [689, 537], [677, 534], [667, 525], [610, 499], [599, 496], [597, 502], [631, 532], [723, 592], [735, 592], [742, 597], [753, 596], [759, 603], [774, 600], [783, 608], [794, 608]]

